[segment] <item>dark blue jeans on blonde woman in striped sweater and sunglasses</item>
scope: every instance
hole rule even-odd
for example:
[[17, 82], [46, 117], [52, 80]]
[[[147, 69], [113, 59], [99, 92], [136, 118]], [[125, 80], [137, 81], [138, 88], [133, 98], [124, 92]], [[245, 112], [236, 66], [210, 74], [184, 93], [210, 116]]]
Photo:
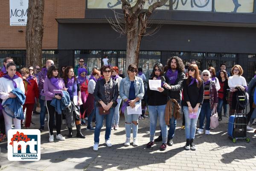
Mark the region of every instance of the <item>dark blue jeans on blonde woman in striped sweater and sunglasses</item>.
[[211, 114], [212, 114], [212, 110], [210, 107], [210, 103], [209, 102], [203, 103], [201, 107], [200, 117], [199, 117], [200, 129], [204, 129], [204, 118], [206, 117], [205, 130], [210, 130]]

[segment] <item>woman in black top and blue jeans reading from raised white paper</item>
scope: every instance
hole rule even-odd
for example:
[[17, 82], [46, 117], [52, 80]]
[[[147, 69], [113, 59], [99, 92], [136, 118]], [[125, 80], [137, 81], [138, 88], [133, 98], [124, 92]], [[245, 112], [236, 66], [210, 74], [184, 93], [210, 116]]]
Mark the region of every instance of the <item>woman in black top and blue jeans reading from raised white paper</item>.
[[[157, 63], [154, 65], [154, 70], [152, 72], [152, 77], [150, 80], [161, 80], [160, 77], [163, 76], [163, 64]], [[163, 82], [157, 90], [150, 90], [148, 84], [147, 96], [148, 96], [148, 113], [150, 118], [150, 142], [147, 144], [147, 148], [151, 148], [154, 145], [154, 135], [157, 127], [157, 117], [159, 118], [160, 127], [162, 130], [162, 145], [160, 150], [166, 150], [167, 142], [167, 125], [165, 122], [165, 108], [167, 103], [168, 92], [163, 88]]]

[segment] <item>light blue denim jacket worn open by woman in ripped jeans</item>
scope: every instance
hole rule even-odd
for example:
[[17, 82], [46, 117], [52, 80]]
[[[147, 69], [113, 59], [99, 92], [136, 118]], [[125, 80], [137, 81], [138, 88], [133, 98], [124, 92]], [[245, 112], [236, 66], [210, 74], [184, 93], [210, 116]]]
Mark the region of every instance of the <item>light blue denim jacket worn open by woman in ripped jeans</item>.
[[[128, 99], [130, 86], [131, 86], [131, 81], [129, 79], [129, 76], [121, 80], [119, 94], [122, 100]], [[142, 100], [144, 96], [144, 84], [143, 84], [143, 80], [140, 77], [135, 76], [134, 88], [135, 88], [135, 96], [140, 98], [140, 100]]]

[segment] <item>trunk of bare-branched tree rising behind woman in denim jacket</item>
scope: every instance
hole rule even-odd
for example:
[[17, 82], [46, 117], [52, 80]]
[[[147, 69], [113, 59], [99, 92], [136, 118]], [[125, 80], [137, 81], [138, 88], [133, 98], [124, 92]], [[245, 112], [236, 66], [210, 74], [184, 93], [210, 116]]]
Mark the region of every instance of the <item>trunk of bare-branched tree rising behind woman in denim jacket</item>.
[[[125, 22], [127, 32], [126, 61], [125, 68], [130, 64], [138, 66], [140, 55], [140, 43], [146, 29], [145, 14], [139, 16], [127, 17]], [[144, 20], [143, 20], [144, 18]]]

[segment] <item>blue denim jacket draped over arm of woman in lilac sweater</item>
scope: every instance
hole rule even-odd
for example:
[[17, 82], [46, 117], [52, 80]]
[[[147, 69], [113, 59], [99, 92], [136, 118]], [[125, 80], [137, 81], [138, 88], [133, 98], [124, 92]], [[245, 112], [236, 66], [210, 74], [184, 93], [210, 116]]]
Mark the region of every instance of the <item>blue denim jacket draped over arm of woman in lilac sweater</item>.
[[61, 114], [62, 110], [71, 105], [69, 93], [67, 91], [62, 91], [62, 93], [63, 96], [61, 97], [61, 100], [53, 98], [51, 102], [51, 105], [55, 108], [55, 111], [58, 112], [58, 114]]

